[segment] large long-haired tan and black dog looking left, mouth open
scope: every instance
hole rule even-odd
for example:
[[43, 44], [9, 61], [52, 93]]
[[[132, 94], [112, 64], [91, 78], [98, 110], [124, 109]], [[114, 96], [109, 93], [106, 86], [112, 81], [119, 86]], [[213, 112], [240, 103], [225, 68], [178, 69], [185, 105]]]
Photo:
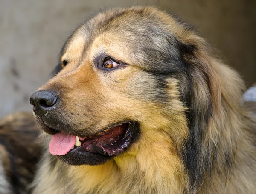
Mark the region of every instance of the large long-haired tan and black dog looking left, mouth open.
[[244, 82], [190, 25], [153, 7], [81, 25], [30, 98], [50, 142], [33, 194], [255, 194]]

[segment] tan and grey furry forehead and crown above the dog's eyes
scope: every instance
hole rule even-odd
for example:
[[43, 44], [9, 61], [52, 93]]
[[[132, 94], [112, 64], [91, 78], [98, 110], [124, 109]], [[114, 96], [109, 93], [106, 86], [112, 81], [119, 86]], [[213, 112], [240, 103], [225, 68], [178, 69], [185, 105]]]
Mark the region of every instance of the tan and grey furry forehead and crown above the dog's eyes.
[[174, 18], [154, 8], [114, 9], [82, 24], [67, 41], [61, 59], [88, 57], [85, 53], [93, 47], [93, 52], [108, 50], [116, 59], [140, 66], [166, 52], [177, 53], [176, 27]]

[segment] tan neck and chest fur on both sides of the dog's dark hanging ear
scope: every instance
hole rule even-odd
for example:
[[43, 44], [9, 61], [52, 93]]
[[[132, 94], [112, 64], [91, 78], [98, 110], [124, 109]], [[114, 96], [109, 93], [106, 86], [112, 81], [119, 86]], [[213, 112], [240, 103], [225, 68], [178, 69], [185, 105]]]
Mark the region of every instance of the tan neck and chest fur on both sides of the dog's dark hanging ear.
[[[255, 123], [250, 112], [240, 105], [239, 76], [218, 62], [213, 67], [218, 78], [223, 79], [219, 80], [221, 106], [202, 142], [211, 150], [210, 166], [201, 169], [206, 172], [196, 190], [190, 188], [189, 169], [177, 151], [183, 145], [166, 138], [169, 135], [166, 130], [155, 130], [153, 136], [143, 137], [147, 141], [140, 139], [141, 143], [135, 143], [129, 152], [99, 166], [68, 166], [47, 150], [34, 181], [33, 194], [253, 194], [256, 174], [251, 169], [256, 168], [256, 153], [255, 139], [250, 138], [255, 137]], [[177, 130], [186, 128], [184, 115], [178, 121]], [[249, 167], [247, 160], [253, 166]]]

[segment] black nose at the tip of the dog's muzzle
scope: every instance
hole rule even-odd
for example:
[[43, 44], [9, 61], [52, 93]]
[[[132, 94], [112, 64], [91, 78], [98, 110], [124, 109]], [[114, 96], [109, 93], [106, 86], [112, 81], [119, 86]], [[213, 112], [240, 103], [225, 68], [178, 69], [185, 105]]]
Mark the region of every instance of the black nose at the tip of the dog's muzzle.
[[41, 116], [52, 109], [56, 101], [57, 97], [48, 90], [37, 91], [30, 96], [30, 104], [33, 105], [34, 112]]

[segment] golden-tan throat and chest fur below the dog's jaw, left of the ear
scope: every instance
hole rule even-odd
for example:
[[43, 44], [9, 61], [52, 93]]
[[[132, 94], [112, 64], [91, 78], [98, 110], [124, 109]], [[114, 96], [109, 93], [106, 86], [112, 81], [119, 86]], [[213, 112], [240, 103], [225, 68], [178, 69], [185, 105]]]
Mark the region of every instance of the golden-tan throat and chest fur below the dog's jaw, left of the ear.
[[[33, 194], [183, 194], [186, 169], [169, 146], [155, 142], [97, 166], [70, 166], [48, 150], [35, 177]], [[164, 143], [164, 142], [161, 142]], [[167, 155], [168, 153], [168, 155]]]

